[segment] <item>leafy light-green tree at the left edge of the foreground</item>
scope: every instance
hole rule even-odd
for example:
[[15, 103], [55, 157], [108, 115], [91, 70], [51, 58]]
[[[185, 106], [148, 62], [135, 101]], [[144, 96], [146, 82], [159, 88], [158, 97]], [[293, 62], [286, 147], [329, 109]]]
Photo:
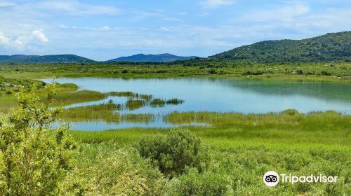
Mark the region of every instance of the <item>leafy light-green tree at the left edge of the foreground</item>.
[[72, 167], [77, 146], [67, 127], [49, 129], [61, 112], [49, 109], [57, 88], [36, 89], [21, 87], [18, 106], [0, 114], [0, 195], [58, 195], [58, 183]]

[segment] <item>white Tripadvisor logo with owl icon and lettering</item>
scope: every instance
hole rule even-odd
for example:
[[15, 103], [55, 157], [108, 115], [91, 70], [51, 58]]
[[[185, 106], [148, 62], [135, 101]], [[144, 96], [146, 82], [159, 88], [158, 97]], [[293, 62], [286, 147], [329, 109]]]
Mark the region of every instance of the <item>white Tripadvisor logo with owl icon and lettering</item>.
[[293, 176], [291, 174], [277, 174], [277, 172], [269, 171], [263, 175], [263, 182], [266, 186], [272, 187], [276, 186], [279, 181], [282, 183], [335, 183], [338, 176], [323, 176], [319, 174], [319, 176], [314, 176], [311, 174], [310, 176]]

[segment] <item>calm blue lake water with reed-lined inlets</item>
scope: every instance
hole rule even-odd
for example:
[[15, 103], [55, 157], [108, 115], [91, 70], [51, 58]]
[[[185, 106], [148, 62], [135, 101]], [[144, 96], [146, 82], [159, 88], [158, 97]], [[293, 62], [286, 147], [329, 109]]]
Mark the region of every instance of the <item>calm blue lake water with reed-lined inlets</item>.
[[[51, 79], [45, 79], [50, 82]], [[211, 78], [58, 78], [58, 83], [75, 83], [79, 90], [98, 92], [135, 92], [152, 94], [159, 99], [182, 99], [183, 104], [163, 107], [144, 106], [121, 113], [150, 113], [151, 123], [71, 123], [74, 130], [99, 131], [127, 127], [173, 127], [162, 116], [173, 111], [216, 111], [238, 113], [280, 112], [296, 109], [301, 113], [334, 110], [351, 114], [351, 85], [329, 82], [268, 81]], [[72, 104], [66, 107], [107, 103], [123, 104], [126, 97], [107, 97], [97, 102]], [[194, 122], [192, 125], [197, 125]]]

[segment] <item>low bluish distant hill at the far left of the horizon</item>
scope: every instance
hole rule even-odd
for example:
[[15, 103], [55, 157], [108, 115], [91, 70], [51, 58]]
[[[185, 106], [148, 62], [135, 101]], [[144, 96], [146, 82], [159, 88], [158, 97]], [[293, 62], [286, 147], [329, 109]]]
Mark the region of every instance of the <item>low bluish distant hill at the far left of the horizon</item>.
[[77, 55], [0, 55], [0, 62], [95, 62]]

